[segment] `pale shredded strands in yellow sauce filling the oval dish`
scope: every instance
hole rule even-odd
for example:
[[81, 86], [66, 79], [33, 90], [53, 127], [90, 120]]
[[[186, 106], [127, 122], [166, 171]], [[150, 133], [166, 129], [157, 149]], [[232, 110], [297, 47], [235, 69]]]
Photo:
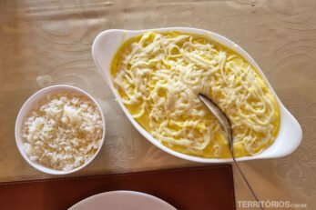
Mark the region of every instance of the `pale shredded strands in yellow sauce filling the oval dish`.
[[229, 157], [209, 96], [228, 115], [236, 156], [256, 155], [275, 139], [279, 107], [240, 55], [208, 38], [148, 32], [127, 41], [112, 62], [114, 85], [131, 115], [162, 144], [204, 157]]

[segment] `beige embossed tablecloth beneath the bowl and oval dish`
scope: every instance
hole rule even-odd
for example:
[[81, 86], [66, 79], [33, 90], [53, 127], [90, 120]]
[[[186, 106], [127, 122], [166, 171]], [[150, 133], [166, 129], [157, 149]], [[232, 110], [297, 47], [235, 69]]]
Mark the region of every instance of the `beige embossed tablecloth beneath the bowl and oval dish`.
[[[107, 115], [101, 154], [76, 175], [199, 165], [141, 137], [91, 57], [95, 36], [108, 28], [192, 26], [225, 35], [246, 49], [302, 126], [301, 146], [292, 155], [240, 163], [255, 191], [262, 200], [316, 206], [315, 10], [311, 0], [0, 1], [0, 181], [51, 177], [19, 155], [14, 126], [25, 99], [56, 84], [87, 90]], [[240, 175], [234, 175], [237, 202], [252, 200]]]

